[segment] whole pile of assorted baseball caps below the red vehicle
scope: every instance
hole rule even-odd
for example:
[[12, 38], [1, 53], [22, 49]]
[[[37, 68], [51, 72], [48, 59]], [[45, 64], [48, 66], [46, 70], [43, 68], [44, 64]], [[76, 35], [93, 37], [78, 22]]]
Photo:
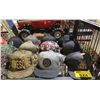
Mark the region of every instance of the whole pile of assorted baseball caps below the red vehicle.
[[84, 59], [78, 43], [64, 35], [59, 40], [50, 34], [29, 35], [24, 41], [13, 37], [8, 44], [15, 48], [8, 55], [6, 76], [10, 79], [26, 77], [55, 78], [65, 63], [69, 71], [79, 68]]

